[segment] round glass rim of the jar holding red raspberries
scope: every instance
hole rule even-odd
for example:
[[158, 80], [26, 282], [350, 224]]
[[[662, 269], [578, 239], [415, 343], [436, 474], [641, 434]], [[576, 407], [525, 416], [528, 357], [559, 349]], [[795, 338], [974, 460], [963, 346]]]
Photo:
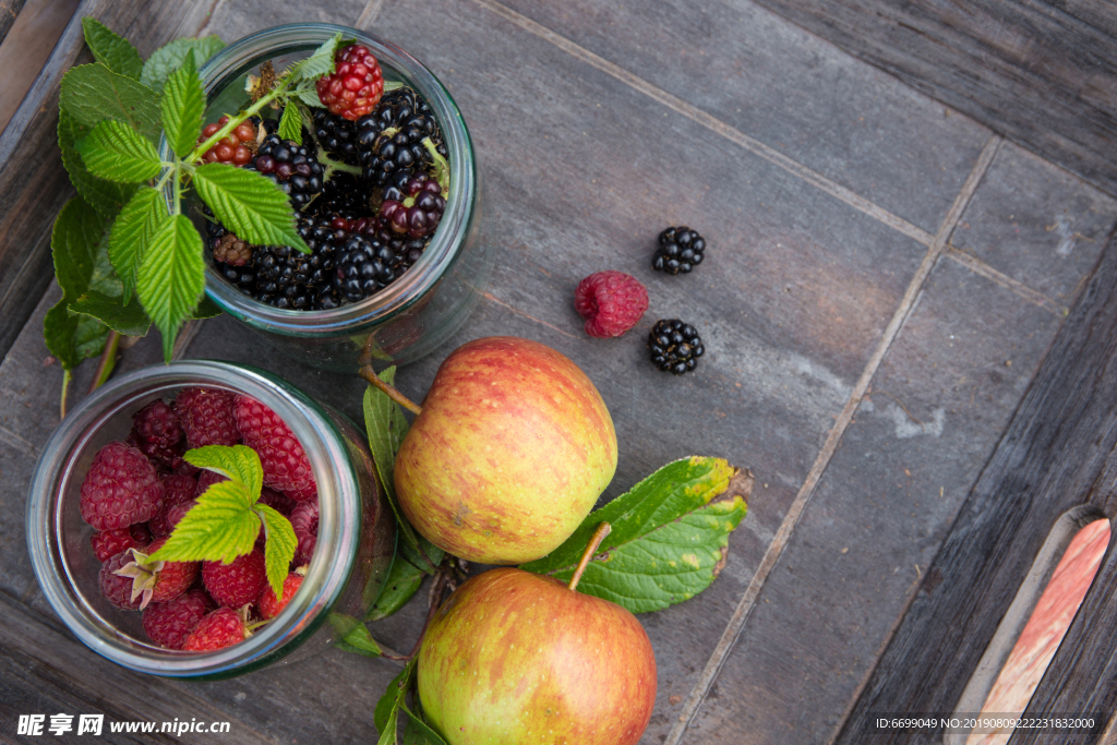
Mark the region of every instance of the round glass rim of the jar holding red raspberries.
[[[64, 498], [76, 461], [99, 428], [140, 400], [190, 385], [237, 391], [267, 405], [292, 429], [318, 486], [318, 538], [303, 585], [288, 605], [244, 642], [211, 652], [181, 652], [118, 631], [85, 599], [63, 543]], [[346, 467], [347, 466], [347, 467]], [[206, 360], [145, 367], [109, 381], [69, 412], [44, 446], [28, 496], [27, 542], [47, 601], [87, 647], [124, 667], [170, 677], [221, 677], [255, 669], [308, 639], [355, 570], [362, 504], [355, 467], [341, 432], [313, 400], [255, 367]], [[330, 561], [326, 557], [343, 558]]]

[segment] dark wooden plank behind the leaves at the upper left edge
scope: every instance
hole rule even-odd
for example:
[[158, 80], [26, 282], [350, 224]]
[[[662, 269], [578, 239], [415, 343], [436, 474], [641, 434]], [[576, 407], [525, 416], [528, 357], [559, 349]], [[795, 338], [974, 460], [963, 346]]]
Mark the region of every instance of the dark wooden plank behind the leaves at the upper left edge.
[[74, 190], [58, 155], [58, 86], [92, 61], [80, 19], [92, 16], [133, 40], [142, 55], [193, 36], [217, 0], [128, 3], [83, 0], [19, 109], [0, 136], [0, 355], [8, 353], [51, 277], [50, 228]]

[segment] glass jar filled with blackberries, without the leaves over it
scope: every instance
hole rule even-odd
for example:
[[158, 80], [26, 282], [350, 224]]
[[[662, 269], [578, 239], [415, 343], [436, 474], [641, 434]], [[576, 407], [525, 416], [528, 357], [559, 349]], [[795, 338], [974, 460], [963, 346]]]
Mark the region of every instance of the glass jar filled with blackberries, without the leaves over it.
[[[280, 133], [286, 107], [238, 114], [337, 31], [334, 71], [295, 102], [300, 126]], [[199, 141], [244, 120], [203, 161], [273, 180], [311, 249], [252, 245], [193, 206], [219, 307], [302, 361], [346, 372], [362, 356], [416, 360], [465, 322], [487, 285], [488, 231], [465, 122], [427, 68], [367, 34], [299, 23], [230, 45], [201, 75], [211, 103]]]

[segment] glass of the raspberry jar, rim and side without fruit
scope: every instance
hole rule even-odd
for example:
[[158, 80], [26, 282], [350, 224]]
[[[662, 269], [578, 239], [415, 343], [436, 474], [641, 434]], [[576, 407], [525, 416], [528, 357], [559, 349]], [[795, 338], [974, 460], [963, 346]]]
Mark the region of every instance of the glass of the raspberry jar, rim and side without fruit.
[[[141, 613], [108, 603], [97, 577], [101, 562], [89, 545], [94, 529], [78, 508], [97, 450], [124, 440], [132, 414], [142, 407], [191, 385], [244, 393], [269, 407], [303, 445], [318, 487], [318, 538], [298, 592], [247, 640], [212, 652], [163, 649], [147, 641]], [[141, 672], [226, 678], [309, 656], [360, 623], [391, 569], [395, 522], [378, 488], [364, 436], [345, 417], [261, 370], [189, 361], [113, 380], [66, 417], [35, 468], [27, 542], [50, 605], [95, 652]]]

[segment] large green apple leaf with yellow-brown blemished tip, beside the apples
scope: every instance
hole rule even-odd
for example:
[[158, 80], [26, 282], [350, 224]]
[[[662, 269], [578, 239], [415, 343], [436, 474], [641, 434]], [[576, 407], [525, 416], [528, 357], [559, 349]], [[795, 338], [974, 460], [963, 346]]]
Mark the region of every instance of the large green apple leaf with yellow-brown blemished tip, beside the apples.
[[[745, 517], [741, 495], [750, 493], [752, 477], [744, 475], [731, 489], [736, 474], [720, 458], [695, 456], [668, 464], [593, 512], [550, 555], [521, 569], [567, 581], [590, 536], [608, 522], [612, 532], [586, 566], [580, 592], [633, 613], [688, 600], [714, 581], [729, 533]], [[719, 495], [726, 496], [715, 502]]]

